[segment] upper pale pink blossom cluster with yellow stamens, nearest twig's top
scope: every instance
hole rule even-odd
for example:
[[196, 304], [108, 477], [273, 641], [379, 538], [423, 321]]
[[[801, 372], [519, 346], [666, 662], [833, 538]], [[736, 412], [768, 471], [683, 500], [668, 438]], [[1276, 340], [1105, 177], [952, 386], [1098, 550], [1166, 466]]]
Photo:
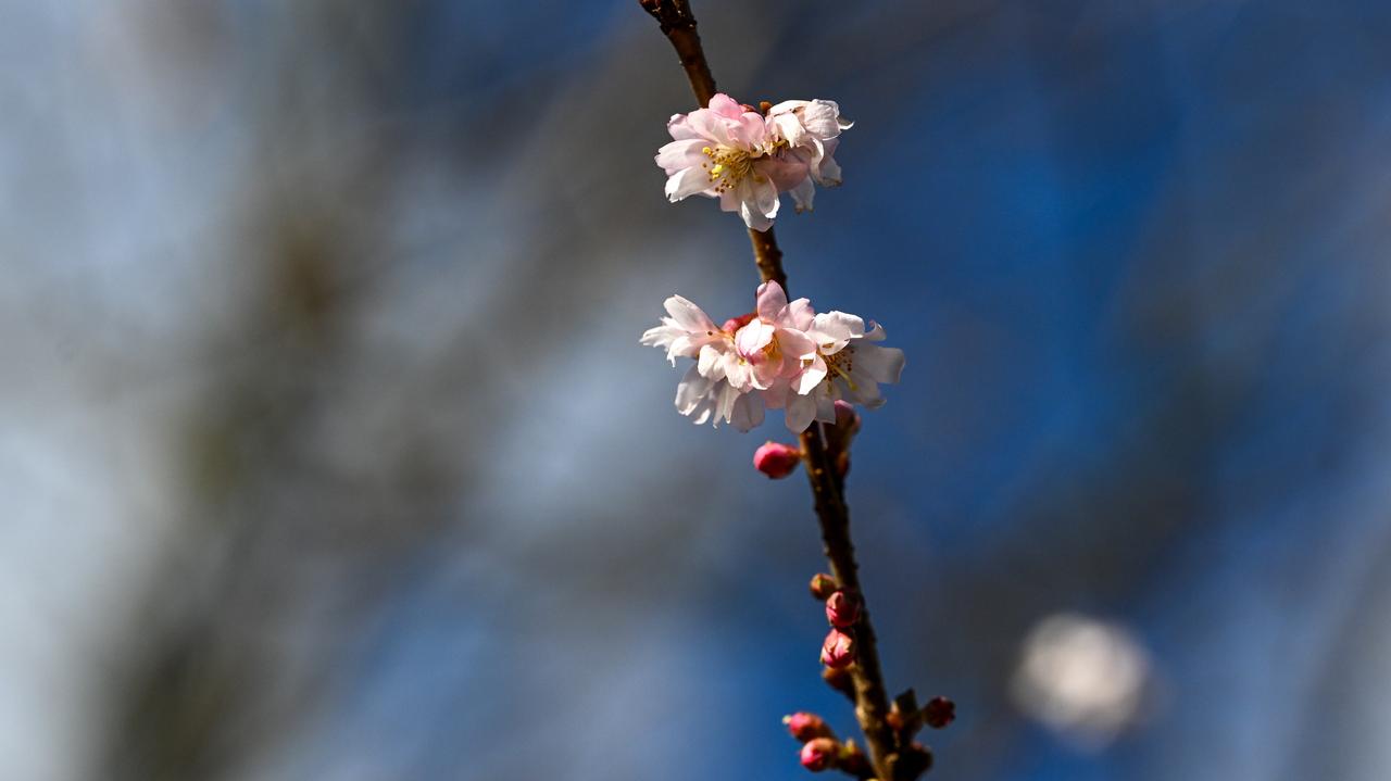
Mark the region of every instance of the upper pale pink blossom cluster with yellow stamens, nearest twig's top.
[[785, 100], [762, 113], [719, 93], [707, 108], [666, 122], [672, 140], [657, 151], [672, 203], [693, 195], [719, 199], [744, 224], [766, 231], [778, 217], [779, 193], [791, 193], [798, 213], [811, 208], [815, 186], [840, 183], [835, 161], [840, 131], [851, 122], [830, 100]]

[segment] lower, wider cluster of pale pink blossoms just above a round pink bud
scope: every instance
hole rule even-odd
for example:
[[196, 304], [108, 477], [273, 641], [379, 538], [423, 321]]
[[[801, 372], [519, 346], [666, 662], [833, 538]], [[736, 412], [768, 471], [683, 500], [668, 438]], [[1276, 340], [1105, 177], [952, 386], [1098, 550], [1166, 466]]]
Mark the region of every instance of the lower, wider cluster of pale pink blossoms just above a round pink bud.
[[778, 282], [758, 286], [757, 309], [722, 325], [698, 306], [672, 296], [669, 317], [643, 334], [641, 343], [676, 359], [696, 359], [676, 388], [676, 411], [697, 424], [727, 422], [739, 431], [782, 409], [787, 428], [836, 422], [836, 402], [883, 406], [881, 382], [897, 382], [903, 350], [882, 347], [876, 322], [843, 311], [817, 313], [808, 299], [787, 302]]

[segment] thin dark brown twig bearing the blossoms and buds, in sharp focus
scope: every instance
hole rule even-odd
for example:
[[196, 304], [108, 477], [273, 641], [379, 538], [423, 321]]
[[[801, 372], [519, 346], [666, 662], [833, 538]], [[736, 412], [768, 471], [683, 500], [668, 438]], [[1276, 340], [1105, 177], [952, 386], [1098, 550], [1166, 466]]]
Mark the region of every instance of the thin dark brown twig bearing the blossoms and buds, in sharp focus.
[[[696, 93], [696, 103], [708, 106], [709, 99], [715, 94], [715, 78], [709, 72], [700, 35], [696, 33], [696, 17], [691, 14], [689, 0], [638, 0], [638, 4], [661, 24], [662, 33], [676, 49], [690, 81], [691, 92]], [[772, 228], [768, 231], [750, 229], [748, 239], [753, 243], [758, 275], [764, 282], [775, 281], [786, 290], [787, 274], [783, 271], [782, 250], [778, 249], [778, 238]], [[821, 424], [812, 424], [803, 432], [801, 449], [832, 575], [840, 588], [854, 591], [864, 599], [858, 566], [855, 564], [855, 548], [850, 542], [850, 510], [846, 507], [844, 485], [832, 464], [830, 453], [826, 450]], [[853, 667], [855, 718], [860, 721], [860, 728], [864, 730], [865, 742], [869, 746], [869, 762], [879, 778], [900, 781], [892, 775], [899, 746], [893, 730], [885, 721], [889, 714], [889, 696], [883, 688], [879, 650], [875, 645], [868, 607], [862, 609], [855, 625], [855, 648]]]

